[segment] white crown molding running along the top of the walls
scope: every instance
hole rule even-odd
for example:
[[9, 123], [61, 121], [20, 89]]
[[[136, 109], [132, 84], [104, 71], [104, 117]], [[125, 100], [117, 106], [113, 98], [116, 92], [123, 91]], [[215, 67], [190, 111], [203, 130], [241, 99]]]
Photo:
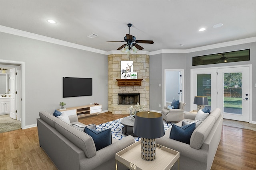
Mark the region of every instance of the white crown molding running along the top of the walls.
[[[36, 40], [40, 40], [40, 41], [45, 41], [48, 43], [54, 43], [54, 44], [58, 44], [58, 45], [63, 45], [66, 47], [72, 47], [72, 48], [76, 48], [76, 49], [81, 49], [81, 50], [85, 50], [85, 51], [90, 51], [93, 53], [99, 53], [99, 54], [104, 54], [104, 55], [111, 55], [111, 54], [123, 54], [121, 53], [121, 51], [119, 50], [112, 50], [112, 51], [104, 51], [104, 50], [100, 50], [100, 49], [94, 49], [91, 47], [87, 47], [84, 45], [78, 45], [75, 43], [70, 43], [67, 41], [62, 41], [59, 39], [55, 39], [55, 38], [50, 38], [50, 37], [46, 37], [43, 35], [38, 35], [35, 33], [30, 33], [30, 32], [26, 32], [26, 31], [22, 31], [19, 29], [14, 29], [14, 28], [10, 28], [10, 27], [5, 27], [0, 25], [0, 32], [4, 32], [4, 33], [9, 33], [9, 34], [13, 34], [13, 35], [18, 35], [21, 37], [27, 37], [27, 38], [31, 38], [31, 39], [36, 39]], [[256, 37], [250, 37], [250, 38], [246, 38], [246, 39], [239, 39], [239, 40], [234, 40], [234, 41], [228, 41], [228, 42], [224, 42], [224, 43], [217, 43], [217, 44], [212, 44], [212, 45], [206, 45], [206, 46], [202, 46], [202, 47], [196, 47], [196, 48], [191, 48], [191, 49], [161, 49], [161, 50], [157, 50], [157, 51], [138, 51], [137, 54], [146, 54], [146, 55], [157, 55], [157, 54], [174, 54], [174, 53], [192, 53], [192, 52], [197, 52], [197, 51], [204, 51], [204, 50], [209, 50], [209, 49], [216, 49], [216, 48], [221, 48], [221, 47], [228, 47], [228, 46], [232, 46], [232, 45], [240, 45], [240, 44], [245, 44], [245, 43], [253, 43], [256, 42]]]

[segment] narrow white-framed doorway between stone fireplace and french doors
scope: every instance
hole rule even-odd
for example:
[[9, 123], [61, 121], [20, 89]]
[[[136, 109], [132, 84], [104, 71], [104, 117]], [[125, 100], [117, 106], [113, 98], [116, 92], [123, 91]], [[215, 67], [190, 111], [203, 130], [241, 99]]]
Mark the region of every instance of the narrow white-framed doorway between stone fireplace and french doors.
[[184, 70], [164, 70], [164, 105], [175, 100], [184, 101]]

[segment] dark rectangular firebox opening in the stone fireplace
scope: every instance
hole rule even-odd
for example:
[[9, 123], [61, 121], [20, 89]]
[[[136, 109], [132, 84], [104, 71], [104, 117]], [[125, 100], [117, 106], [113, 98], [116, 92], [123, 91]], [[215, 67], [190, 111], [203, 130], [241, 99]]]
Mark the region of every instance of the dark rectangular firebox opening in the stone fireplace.
[[139, 93], [118, 94], [118, 104], [137, 104], [140, 103]]

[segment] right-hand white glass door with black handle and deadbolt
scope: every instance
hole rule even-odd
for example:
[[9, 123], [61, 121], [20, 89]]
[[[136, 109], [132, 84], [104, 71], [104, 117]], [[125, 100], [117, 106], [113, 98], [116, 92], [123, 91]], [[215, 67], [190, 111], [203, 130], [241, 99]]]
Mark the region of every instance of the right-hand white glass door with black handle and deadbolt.
[[249, 75], [248, 66], [218, 69], [218, 107], [224, 119], [249, 122]]

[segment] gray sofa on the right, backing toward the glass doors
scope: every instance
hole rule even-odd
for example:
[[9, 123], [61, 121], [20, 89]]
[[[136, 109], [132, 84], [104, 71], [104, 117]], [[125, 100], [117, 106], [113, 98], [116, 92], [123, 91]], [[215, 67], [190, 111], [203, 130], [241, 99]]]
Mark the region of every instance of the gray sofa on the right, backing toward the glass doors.
[[[194, 113], [184, 114], [184, 120], [187, 121], [194, 121], [195, 117]], [[181, 126], [182, 121], [176, 125]], [[216, 108], [193, 131], [190, 145], [170, 139], [171, 129], [163, 137], [156, 139], [156, 142], [180, 152], [180, 170], [210, 170], [220, 142], [222, 122], [221, 110]], [[172, 169], [177, 169], [177, 166], [177, 163], [174, 164]]]

